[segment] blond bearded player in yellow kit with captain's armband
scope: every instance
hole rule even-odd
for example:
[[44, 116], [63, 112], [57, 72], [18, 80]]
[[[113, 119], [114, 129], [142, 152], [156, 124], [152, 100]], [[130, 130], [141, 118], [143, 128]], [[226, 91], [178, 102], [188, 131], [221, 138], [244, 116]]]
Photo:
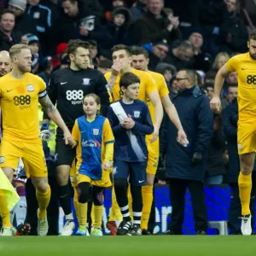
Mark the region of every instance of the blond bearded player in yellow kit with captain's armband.
[[[31, 72], [32, 54], [26, 44], [15, 44], [9, 50], [12, 71], [0, 79], [0, 98], [3, 119], [3, 139], [0, 149], [0, 167], [12, 181], [19, 158], [24, 162], [26, 177], [32, 178], [38, 199], [38, 236], [46, 236], [48, 222], [46, 209], [50, 189], [43, 145], [39, 137], [38, 102], [49, 118], [61, 127], [65, 143], [72, 139], [67, 126], [47, 96], [44, 81]], [[3, 236], [13, 236], [10, 212], [4, 191], [0, 191], [0, 214], [3, 218]]]

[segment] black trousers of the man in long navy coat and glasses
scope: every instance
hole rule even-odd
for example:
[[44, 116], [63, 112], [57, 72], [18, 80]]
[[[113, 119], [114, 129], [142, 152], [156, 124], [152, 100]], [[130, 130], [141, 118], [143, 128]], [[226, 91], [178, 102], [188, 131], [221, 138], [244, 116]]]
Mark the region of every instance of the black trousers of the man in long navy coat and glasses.
[[195, 230], [207, 231], [207, 205], [203, 183], [193, 180], [171, 178], [169, 189], [172, 204], [172, 221], [169, 224], [169, 230], [177, 235], [182, 234], [185, 212], [185, 193], [187, 188], [189, 189], [193, 206]]

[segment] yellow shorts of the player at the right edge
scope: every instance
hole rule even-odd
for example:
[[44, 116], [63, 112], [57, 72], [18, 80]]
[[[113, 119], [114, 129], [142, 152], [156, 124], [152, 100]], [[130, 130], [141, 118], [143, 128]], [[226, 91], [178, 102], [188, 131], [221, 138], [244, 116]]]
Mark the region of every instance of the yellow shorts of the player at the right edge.
[[256, 118], [247, 117], [238, 121], [238, 154], [256, 152]]

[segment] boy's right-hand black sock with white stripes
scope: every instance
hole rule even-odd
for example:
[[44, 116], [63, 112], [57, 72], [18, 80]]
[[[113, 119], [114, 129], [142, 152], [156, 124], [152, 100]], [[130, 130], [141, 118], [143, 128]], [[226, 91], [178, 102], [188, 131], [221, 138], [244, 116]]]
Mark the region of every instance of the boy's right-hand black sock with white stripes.
[[131, 185], [133, 224], [141, 224], [143, 213], [143, 193], [142, 187]]

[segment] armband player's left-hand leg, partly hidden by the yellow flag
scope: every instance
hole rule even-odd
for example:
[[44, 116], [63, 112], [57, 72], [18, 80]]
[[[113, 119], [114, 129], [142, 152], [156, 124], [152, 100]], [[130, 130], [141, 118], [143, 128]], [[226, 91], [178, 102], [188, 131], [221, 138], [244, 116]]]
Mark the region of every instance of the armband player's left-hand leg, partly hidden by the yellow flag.
[[[9, 182], [12, 183], [14, 177], [14, 170], [9, 167], [2, 168], [6, 177], [8, 177]], [[2, 236], [15, 236], [16, 230], [13, 228], [10, 222], [10, 211], [7, 207], [7, 201], [5, 199], [5, 194], [2, 189], [0, 189], [0, 214], [3, 218], [3, 232]]]

